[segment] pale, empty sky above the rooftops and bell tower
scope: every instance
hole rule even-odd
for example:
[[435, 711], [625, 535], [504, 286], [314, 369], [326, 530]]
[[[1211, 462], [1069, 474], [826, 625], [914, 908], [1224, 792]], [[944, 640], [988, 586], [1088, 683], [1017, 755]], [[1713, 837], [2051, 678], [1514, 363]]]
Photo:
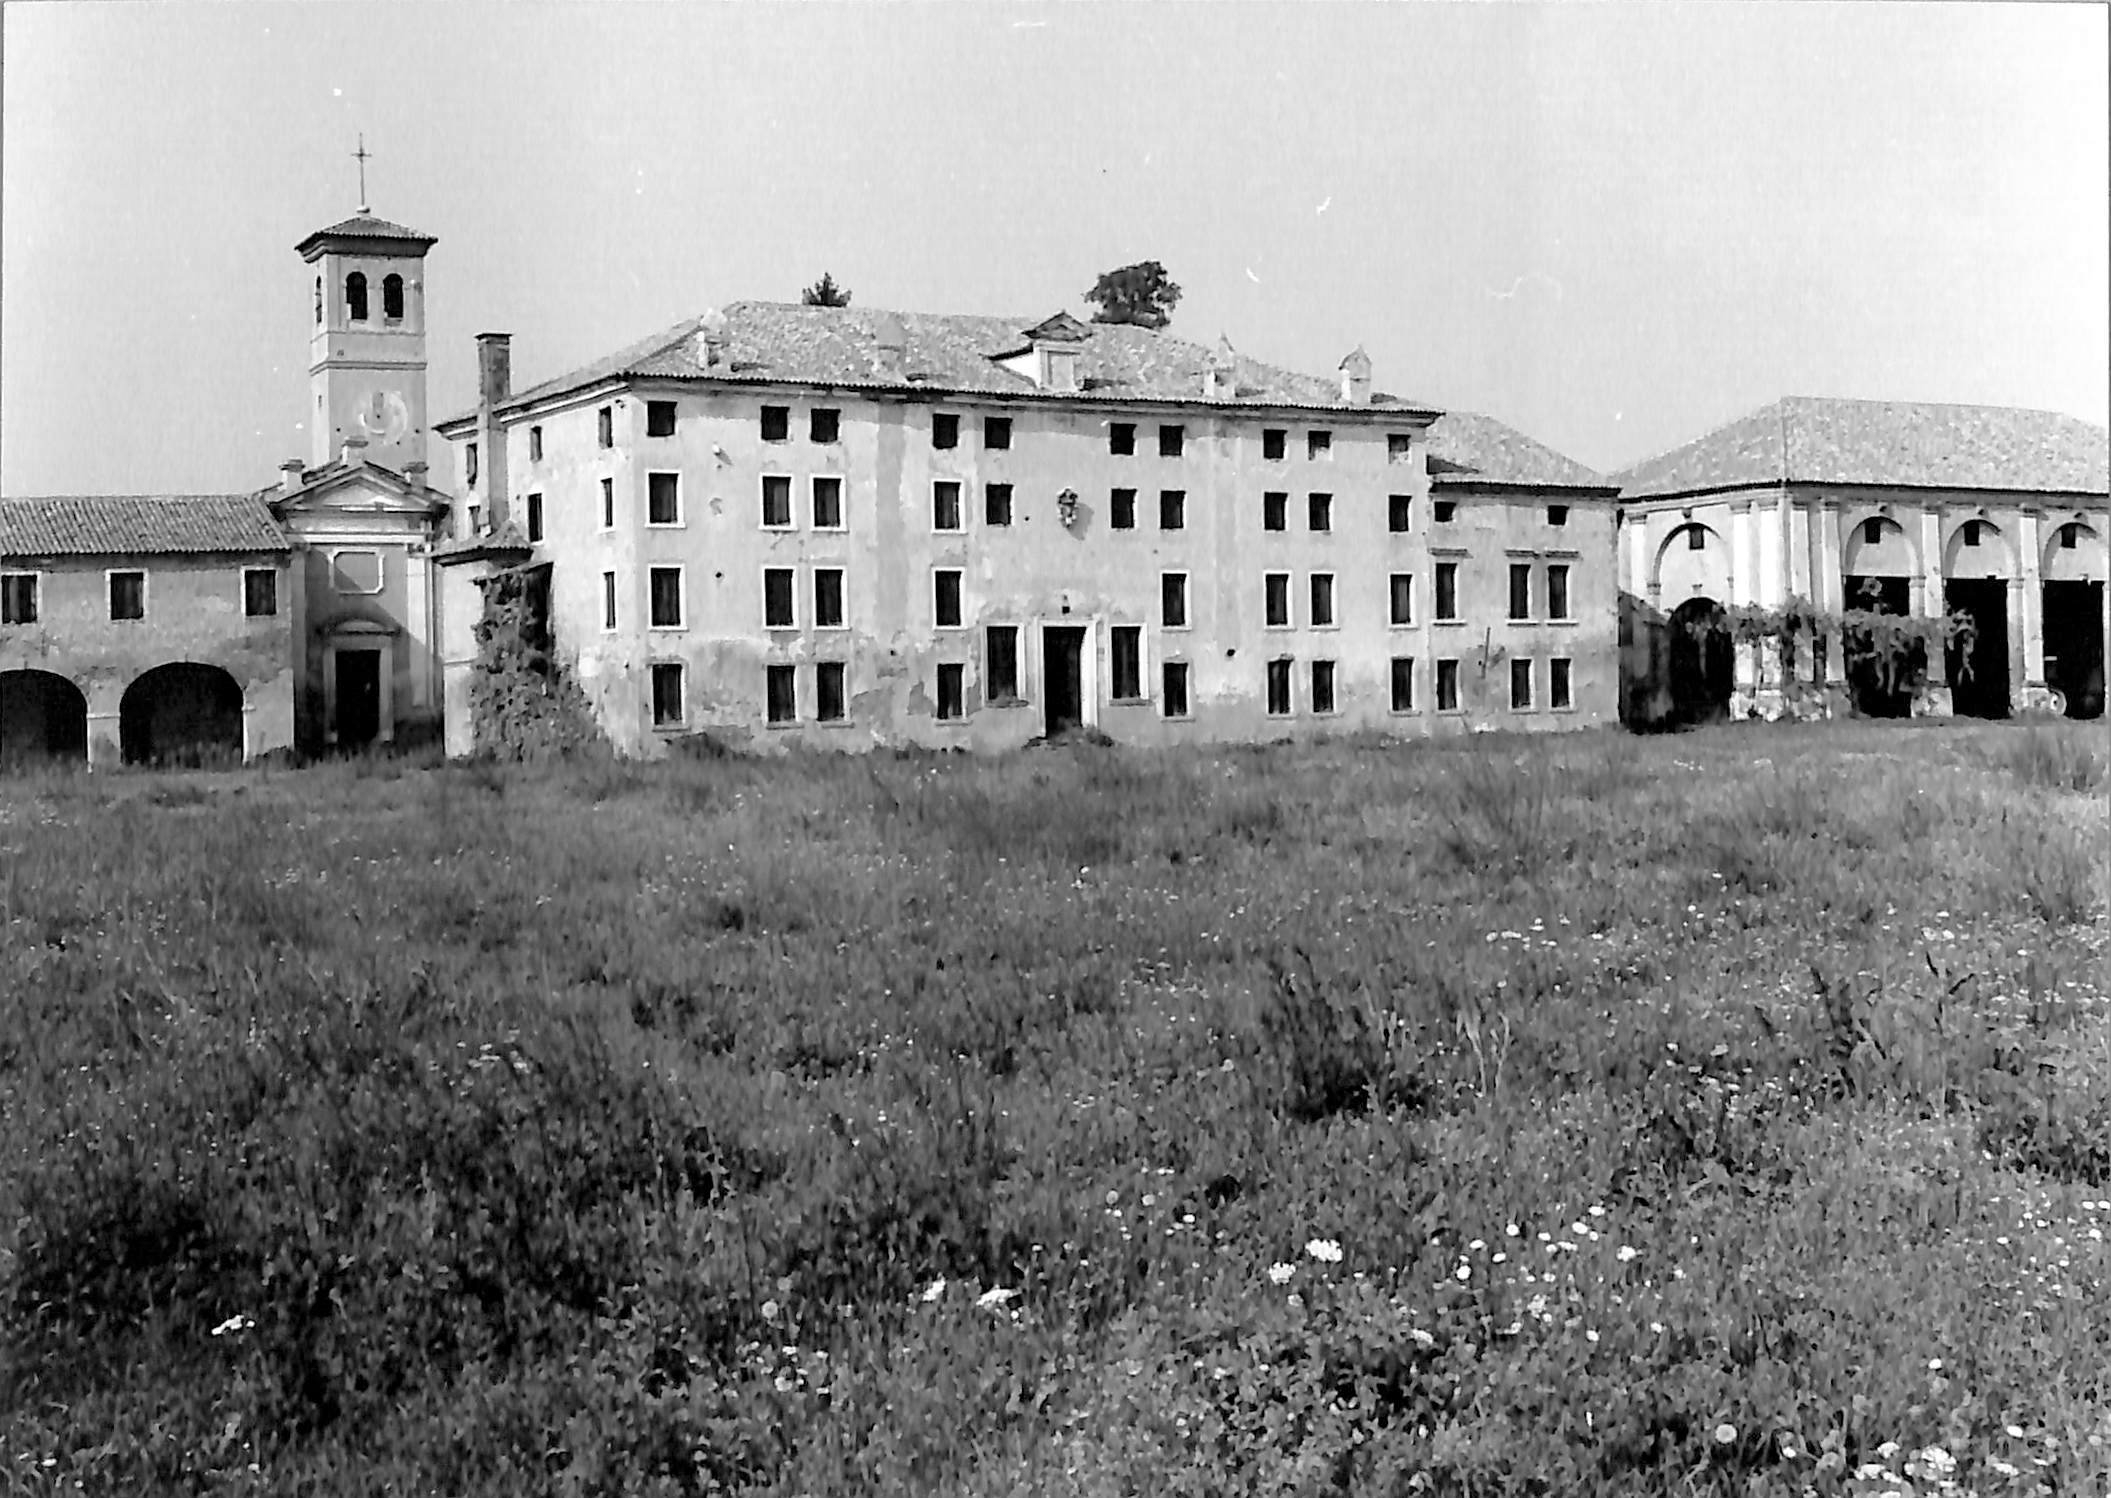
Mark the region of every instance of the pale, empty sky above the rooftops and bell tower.
[[[1598, 466], [1780, 395], [2111, 420], [2094, 4], [8, 4], [0, 489], [308, 454], [306, 232], [435, 234], [433, 416], [823, 270], [1174, 331]], [[435, 464], [437, 473], [443, 473]]]

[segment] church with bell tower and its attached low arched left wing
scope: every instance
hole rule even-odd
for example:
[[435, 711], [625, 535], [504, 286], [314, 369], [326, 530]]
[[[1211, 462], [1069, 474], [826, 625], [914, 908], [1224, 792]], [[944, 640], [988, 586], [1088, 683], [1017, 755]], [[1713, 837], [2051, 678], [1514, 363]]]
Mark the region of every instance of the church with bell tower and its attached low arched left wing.
[[433, 243], [361, 209], [296, 247], [312, 445], [277, 483], [0, 500], [0, 757], [241, 762], [441, 732]]

